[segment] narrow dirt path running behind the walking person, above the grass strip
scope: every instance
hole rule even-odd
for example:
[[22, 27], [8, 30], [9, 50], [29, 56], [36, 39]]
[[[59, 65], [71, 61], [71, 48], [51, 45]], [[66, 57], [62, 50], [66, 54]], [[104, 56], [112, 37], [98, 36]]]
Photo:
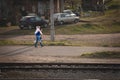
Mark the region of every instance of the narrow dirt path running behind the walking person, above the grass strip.
[[[33, 40], [34, 35], [0, 35], [0, 40]], [[50, 35], [44, 35], [43, 40], [50, 40]], [[116, 41], [120, 42], [120, 33], [116, 34], [80, 34], [80, 35], [55, 35], [55, 40], [81, 40], [81, 41]]]

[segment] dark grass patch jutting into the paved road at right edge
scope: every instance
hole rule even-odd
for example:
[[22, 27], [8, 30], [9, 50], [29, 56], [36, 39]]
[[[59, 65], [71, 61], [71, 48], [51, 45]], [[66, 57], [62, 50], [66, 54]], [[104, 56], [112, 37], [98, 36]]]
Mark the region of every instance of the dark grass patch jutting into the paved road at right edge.
[[107, 52], [95, 52], [82, 54], [83, 58], [120, 58], [120, 52], [107, 51]]

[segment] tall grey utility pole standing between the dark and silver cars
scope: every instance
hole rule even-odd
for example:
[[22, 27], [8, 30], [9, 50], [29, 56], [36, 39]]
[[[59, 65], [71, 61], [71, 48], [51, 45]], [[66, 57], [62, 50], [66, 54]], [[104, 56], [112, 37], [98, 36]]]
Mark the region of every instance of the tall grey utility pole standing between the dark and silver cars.
[[55, 40], [55, 29], [54, 29], [54, 0], [50, 0], [50, 35], [51, 41]]

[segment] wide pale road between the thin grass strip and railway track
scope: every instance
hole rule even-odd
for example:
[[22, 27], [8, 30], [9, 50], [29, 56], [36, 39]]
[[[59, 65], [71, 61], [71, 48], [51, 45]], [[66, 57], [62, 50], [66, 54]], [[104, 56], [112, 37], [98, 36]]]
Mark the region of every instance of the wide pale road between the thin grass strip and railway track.
[[120, 51], [120, 47], [0, 46], [0, 62], [120, 63], [119, 59], [80, 58], [83, 53]]

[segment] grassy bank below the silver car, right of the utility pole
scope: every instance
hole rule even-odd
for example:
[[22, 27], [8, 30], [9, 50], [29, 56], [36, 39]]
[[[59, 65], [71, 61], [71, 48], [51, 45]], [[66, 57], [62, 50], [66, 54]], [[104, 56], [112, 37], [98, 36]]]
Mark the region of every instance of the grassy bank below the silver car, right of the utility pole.
[[56, 28], [56, 34], [105, 34], [105, 33], [119, 33], [119, 26], [104, 26], [102, 24], [75, 24], [60, 26]]

